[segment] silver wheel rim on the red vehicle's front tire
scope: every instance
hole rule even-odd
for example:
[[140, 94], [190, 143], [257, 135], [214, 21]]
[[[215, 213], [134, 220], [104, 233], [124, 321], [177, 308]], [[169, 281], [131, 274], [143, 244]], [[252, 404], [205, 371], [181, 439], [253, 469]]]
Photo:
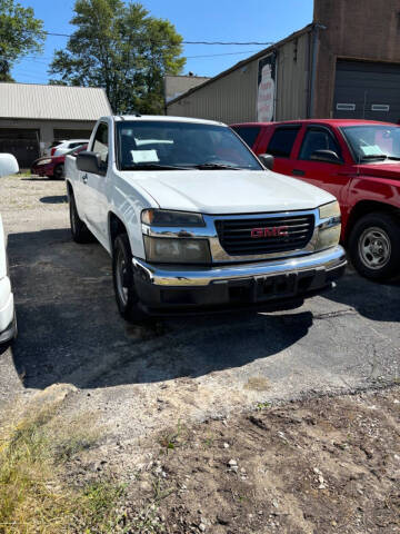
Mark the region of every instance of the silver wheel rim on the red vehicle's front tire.
[[359, 239], [359, 256], [369, 269], [378, 270], [390, 260], [391, 243], [388, 234], [378, 227], [367, 228]]

